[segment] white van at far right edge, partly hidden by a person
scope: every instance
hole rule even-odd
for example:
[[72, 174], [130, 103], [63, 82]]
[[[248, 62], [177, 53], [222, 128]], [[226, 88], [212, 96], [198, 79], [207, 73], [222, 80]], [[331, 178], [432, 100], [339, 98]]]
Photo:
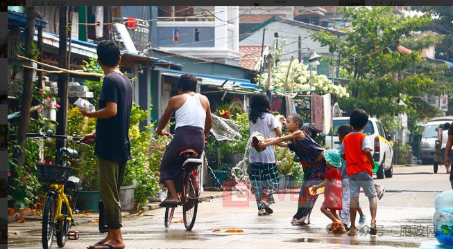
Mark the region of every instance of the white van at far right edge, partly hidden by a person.
[[436, 140], [439, 139], [436, 129], [440, 124], [445, 124], [446, 122], [453, 122], [453, 116], [433, 118], [425, 124], [422, 140], [420, 141], [420, 158], [423, 165], [433, 163], [436, 155]]

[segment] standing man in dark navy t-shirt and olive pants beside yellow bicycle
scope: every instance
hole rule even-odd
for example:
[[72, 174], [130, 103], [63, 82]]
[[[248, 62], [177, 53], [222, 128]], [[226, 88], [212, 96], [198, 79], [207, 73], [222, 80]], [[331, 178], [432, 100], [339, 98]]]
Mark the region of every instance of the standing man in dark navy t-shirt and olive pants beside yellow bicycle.
[[130, 159], [128, 131], [133, 89], [128, 77], [119, 71], [121, 56], [117, 44], [103, 41], [96, 50], [105, 77], [99, 96], [99, 111], [90, 112], [87, 106], [82, 110], [83, 116], [97, 118], [96, 130], [85, 135], [82, 141], [93, 143], [96, 140], [94, 154], [99, 160], [99, 194], [103, 203], [100, 220], [104, 219], [99, 225], [100, 228], [104, 223], [107, 225], [108, 235], [90, 248], [125, 248], [121, 234], [119, 187]]

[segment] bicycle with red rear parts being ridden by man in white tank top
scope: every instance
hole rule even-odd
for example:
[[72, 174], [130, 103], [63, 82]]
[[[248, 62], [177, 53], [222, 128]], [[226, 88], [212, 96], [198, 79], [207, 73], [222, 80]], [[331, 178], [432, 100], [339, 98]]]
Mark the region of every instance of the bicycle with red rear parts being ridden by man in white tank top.
[[[169, 134], [169, 137], [173, 139], [173, 136]], [[198, 151], [194, 149], [182, 149], [180, 156], [184, 158], [182, 164], [182, 192], [178, 192], [178, 205], [182, 206], [182, 219], [187, 231], [194, 228], [196, 213], [198, 210], [198, 203], [203, 201], [211, 201], [210, 197], [200, 198], [200, 178], [203, 177], [203, 166], [205, 161], [205, 153], [201, 154], [201, 159], [198, 158]], [[200, 177], [198, 177], [200, 176]], [[170, 194], [167, 194], [167, 198]], [[165, 208], [165, 228], [169, 228], [173, 214], [175, 213], [176, 207]]]

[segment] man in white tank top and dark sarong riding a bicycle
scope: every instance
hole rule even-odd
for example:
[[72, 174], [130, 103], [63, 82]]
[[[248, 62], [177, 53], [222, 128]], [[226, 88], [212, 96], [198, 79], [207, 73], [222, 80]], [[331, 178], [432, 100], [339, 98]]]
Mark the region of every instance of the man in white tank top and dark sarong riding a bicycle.
[[168, 136], [164, 131], [173, 112], [176, 116], [175, 137], [165, 150], [160, 165], [160, 183], [168, 188], [170, 197], [162, 201], [162, 207], [176, 207], [178, 193], [182, 189], [182, 163], [180, 156], [183, 149], [193, 149], [201, 156], [205, 149], [205, 137], [210, 133], [212, 117], [210, 102], [206, 96], [196, 91], [196, 77], [191, 74], [181, 75], [178, 79], [178, 94], [169, 100], [159, 125], [155, 130], [158, 135]]

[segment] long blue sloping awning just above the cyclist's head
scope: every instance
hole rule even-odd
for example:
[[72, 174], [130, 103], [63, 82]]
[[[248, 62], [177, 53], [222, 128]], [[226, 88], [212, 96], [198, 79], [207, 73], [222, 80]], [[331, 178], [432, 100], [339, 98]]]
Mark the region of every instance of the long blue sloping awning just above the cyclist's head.
[[[182, 72], [182, 71], [171, 70], [168, 68], [161, 68], [161, 67], [157, 67], [157, 66], [154, 68], [154, 70], [161, 71], [162, 75], [167, 75], [167, 76], [171, 76], [171, 77], [180, 77], [181, 75], [187, 73], [187, 72]], [[225, 76], [204, 75], [204, 74], [200, 74], [200, 73], [190, 73], [190, 74], [199, 78], [201, 80], [201, 82], [200, 82], [201, 85], [219, 86], [219, 87], [235, 87], [236, 86], [241, 89], [251, 89], [251, 90], [258, 89], [258, 85], [252, 84], [250, 82], [250, 80], [238, 79], [238, 78], [233, 78], [233, 77], [225, 77]]]

